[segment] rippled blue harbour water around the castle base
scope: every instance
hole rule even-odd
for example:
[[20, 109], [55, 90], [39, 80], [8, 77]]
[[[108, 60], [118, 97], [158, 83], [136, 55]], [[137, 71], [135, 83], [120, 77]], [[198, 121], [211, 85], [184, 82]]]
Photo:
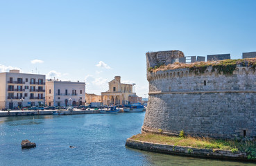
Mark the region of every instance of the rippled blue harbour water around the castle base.
[[[0, 118], [0, 165], [254, 165], [126, 148], [126, 138], [140, 133], [144, 115]], [[20, 143], [25, 139], [37, 147], [22, 149]]]

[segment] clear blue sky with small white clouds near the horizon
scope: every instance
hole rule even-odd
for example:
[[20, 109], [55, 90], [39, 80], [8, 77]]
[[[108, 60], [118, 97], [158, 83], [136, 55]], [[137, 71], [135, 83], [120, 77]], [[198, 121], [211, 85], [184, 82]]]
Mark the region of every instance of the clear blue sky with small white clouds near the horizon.
[[0, 0], [0, 71], [85, 81], [96, 94], [120, 75], [144, 97], [148, 51], [232, 59], [256, 51], [255, 8], [256, 1], [238, 0]]

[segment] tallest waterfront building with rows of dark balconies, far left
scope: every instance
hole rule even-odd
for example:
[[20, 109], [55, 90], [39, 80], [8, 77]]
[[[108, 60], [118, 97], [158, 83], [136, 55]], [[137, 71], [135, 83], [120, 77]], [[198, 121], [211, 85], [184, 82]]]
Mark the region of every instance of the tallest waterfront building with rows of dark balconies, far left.
[[40, 106], [45, 102], [45, 75], [0, 73], [0, 109]]

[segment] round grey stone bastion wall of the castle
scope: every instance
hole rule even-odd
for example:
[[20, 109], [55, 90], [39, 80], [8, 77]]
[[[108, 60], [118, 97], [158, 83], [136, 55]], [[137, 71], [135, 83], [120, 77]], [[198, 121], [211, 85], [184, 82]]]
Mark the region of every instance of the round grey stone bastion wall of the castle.
[[146, 53], [149, 97], [142, 132], [256, 138], [255, 66], [236, 64], [230, 74], [211, 65], [201, 73], [153, 69], [180, 57], [179, 50]]

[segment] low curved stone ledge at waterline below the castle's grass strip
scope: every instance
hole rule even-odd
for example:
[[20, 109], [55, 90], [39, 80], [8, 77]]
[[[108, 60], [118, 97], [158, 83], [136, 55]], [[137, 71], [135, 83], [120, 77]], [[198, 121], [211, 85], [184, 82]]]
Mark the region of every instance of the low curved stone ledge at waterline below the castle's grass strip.
[[128, 138], [126, 140], [126, 146], [133, 149], [152, 151], [152, 152], [164, 153], [164, 154], [176, 154], [180, 156], [221, 158], [221, 159], [229, 159], [229, 160], [248, 160], [249, 161], [249, 159], [246, 156], [246, 153], [241, 151], [232, 153], [232, 151], [219, 150], [219, 149], [199, 149], [194, 147], [164, 145], [164, 144], [153, 143], [153, 142], [143, 142], [139, 140], [133, 140], [131, 138]]

